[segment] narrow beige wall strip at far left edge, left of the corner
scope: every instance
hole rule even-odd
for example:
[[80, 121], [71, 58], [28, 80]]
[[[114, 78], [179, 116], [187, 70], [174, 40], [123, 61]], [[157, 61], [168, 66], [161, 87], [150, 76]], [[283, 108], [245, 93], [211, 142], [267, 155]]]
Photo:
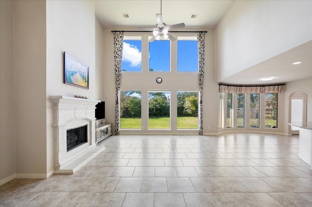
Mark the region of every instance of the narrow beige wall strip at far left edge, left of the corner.
[[13, 1], [0, 1], [0, 185], [16, 172]]

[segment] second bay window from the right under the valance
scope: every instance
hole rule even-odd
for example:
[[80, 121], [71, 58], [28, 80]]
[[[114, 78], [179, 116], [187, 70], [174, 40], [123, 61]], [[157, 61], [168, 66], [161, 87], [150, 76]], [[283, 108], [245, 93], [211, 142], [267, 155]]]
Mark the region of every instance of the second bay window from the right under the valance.
[[250, 127], [260, 127], [260, 94], [250, 94]]

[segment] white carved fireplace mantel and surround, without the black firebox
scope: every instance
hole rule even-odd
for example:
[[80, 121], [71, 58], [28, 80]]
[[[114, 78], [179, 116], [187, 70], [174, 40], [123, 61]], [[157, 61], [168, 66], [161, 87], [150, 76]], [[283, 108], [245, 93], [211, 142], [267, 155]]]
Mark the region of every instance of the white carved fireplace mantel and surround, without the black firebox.
[[[53, 103], [55, 170], [62, 170], [66, 163], [96, 146], [95, 106], [98, 100], [68, 96], [50, 96]], [[87, 141], [67, 151], [67, 131], [86, 126]]]

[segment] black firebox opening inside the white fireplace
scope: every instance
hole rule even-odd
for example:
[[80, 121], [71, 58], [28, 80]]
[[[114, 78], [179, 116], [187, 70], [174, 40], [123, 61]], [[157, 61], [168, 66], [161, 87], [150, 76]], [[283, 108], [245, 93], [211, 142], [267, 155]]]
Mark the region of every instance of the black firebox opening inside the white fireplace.
[[67, 152], [88, 141], [88, 125], [67, 130]]

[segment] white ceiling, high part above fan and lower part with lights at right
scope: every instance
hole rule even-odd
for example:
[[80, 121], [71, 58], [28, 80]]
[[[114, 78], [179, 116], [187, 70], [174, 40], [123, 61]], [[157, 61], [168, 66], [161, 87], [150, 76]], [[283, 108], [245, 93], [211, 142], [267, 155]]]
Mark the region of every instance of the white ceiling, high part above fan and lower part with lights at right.
[[[233, 0], [162, 0], [167, 25], [184, 22], [185, 28], [215, 28]], [[97, 0], [96, 16], [104, 28], [154, 27], [160, 0]], [[124, 18], [128, 14], [129, 18]], [[191, 18], [192, 15], [197, 18]], [[292, 65], [292, 60], [301, 61]], [[271, 81], [260, 78], [273, 77]], [[224, 80], [229, 84], [286, 83], [312, 77], [312, 41], [279, 54]]]

